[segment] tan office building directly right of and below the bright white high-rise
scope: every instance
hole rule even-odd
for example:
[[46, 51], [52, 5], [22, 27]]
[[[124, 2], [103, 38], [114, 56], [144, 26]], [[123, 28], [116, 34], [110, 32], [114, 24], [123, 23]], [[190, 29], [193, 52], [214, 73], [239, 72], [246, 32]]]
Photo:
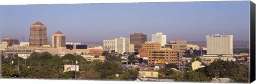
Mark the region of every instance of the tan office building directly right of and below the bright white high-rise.
[[180, 39], [176, 39], [176, 40], [173, 40], [173, 41], [169, 41], [169, 44], [177, 44], [178, 45], [178, 48], [180, 50], [180, 52], [182, 54], [185, 54], [186, 52], [186, 48], [187, 48], [187, 41], [182, 41]]

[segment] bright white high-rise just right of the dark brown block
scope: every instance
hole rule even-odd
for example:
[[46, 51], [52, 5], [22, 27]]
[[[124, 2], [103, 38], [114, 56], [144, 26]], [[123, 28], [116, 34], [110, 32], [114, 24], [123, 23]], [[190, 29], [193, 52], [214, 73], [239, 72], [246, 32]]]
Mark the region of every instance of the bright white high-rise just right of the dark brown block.
[[152, 34], [151, 40], [160, 43], [161, 46], [164, 46], [166, 44], [166, 35], [163, 34], [163, 32], [157, 32]]

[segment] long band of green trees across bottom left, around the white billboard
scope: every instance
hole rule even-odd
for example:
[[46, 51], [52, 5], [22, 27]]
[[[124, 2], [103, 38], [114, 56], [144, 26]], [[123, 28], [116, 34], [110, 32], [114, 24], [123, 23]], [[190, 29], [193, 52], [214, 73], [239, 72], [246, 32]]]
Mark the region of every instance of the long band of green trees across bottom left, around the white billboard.
[[[76, 59], [79, 65], [76, 76], [75, 71], [63, 72], [63, 65], [75, 64]], [[59, 57], [48, 52], [34, 52], [26, 60], [17, 55], [7, 58], [2, 56], [1, 62], [3, 78], [134, 80], [139, 74], [137, 70], [123, 68], [120, 56], [109, 55], [106, 55], [104, 62], [89, 62], [80, 55], [66, 54]]]

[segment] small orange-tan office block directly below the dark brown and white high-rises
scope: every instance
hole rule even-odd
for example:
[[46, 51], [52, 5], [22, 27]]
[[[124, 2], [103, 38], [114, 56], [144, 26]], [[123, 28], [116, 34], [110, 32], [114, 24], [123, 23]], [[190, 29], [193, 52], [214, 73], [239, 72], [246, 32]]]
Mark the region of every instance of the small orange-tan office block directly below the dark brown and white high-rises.
[[161, 48], [161, 44], [158, 42], [154, 42], [154, 41], [146, 41], [143, 45], [142, 45], [142, 50], [143, 51], [158, 51]]

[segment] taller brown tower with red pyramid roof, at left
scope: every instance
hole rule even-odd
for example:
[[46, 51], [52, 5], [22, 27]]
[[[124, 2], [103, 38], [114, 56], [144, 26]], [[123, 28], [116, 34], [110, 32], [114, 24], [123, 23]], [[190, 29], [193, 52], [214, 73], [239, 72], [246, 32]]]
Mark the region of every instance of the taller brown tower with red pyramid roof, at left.
[[46, 26], [41, 22], [36, 22], [30, 27], [29, 46], [42, 47], [47, 44]]

